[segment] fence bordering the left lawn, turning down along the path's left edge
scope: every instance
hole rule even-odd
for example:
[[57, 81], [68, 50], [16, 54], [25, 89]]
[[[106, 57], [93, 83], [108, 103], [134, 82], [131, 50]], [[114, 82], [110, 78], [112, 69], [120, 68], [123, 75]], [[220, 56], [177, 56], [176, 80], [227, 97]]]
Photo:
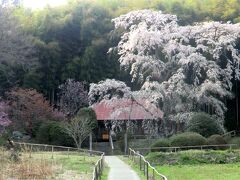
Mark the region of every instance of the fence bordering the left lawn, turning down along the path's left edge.
[[47, 144], [32, 144], [32, 143], [23, 143], [23, 142], [13, 142], [16, 149], [19, 149], [22, 152], [25, 152], [32, 157], [33, 153], [36, 152], [49, 152], [50, 157], [54, 159], [58, 154], [56, 152], [61, 152], [66, 154], [69, 158], [70, 154], [77, 154], [84, 157], [86, 156], [100, 156], [97, 160], [96, 164], [94, 165], [92, 180], [99, 180], [101, 179], [101, 175], [104, 168], [104, 152], [101, 151], [93, 151], [93, 150], [86, 150], [86, 149], [79, 149], [73, 147], [65, 147], [65, 146], [54, 146], [54, 145], [47, 145]]

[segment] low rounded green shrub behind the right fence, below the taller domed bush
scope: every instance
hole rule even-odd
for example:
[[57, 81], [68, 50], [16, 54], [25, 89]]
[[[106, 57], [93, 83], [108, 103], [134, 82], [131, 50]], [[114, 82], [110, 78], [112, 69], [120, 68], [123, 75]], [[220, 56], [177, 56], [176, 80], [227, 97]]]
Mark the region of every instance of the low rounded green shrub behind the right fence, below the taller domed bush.
[[206, 138], [194, 132], [177, 134], [170, 138], [171, 146], [197, 146], [207, 144]]

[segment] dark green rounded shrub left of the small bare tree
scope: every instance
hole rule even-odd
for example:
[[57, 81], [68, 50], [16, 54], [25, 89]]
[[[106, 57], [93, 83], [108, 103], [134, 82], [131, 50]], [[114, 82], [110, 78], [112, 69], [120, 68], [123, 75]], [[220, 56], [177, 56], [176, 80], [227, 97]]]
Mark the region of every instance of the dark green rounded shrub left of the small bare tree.
[[56, 121], [42, 123], [37, 132], [37, 140], [40, 143], [61, 146], [73, 146], [72, 139], [64, 132], [62, 124]]

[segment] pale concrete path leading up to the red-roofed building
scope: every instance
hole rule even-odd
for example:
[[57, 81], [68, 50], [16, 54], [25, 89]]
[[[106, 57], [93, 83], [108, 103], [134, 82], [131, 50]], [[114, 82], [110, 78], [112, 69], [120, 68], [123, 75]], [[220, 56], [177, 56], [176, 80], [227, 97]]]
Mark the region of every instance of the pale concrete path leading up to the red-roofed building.
[[140, 180], [135, 171], [116, 156], [105, 156], [110, 167], [108, 180]]

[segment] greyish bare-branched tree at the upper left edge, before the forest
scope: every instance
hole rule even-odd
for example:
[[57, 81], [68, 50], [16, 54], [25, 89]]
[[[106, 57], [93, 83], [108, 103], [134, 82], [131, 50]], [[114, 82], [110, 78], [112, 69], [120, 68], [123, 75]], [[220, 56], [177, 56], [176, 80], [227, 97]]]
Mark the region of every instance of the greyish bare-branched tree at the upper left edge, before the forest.
[[24, 74], [37, 64], [33, 38], [12, 13], [12, 9], [0, 6], [0, 95], [22, 85]]

